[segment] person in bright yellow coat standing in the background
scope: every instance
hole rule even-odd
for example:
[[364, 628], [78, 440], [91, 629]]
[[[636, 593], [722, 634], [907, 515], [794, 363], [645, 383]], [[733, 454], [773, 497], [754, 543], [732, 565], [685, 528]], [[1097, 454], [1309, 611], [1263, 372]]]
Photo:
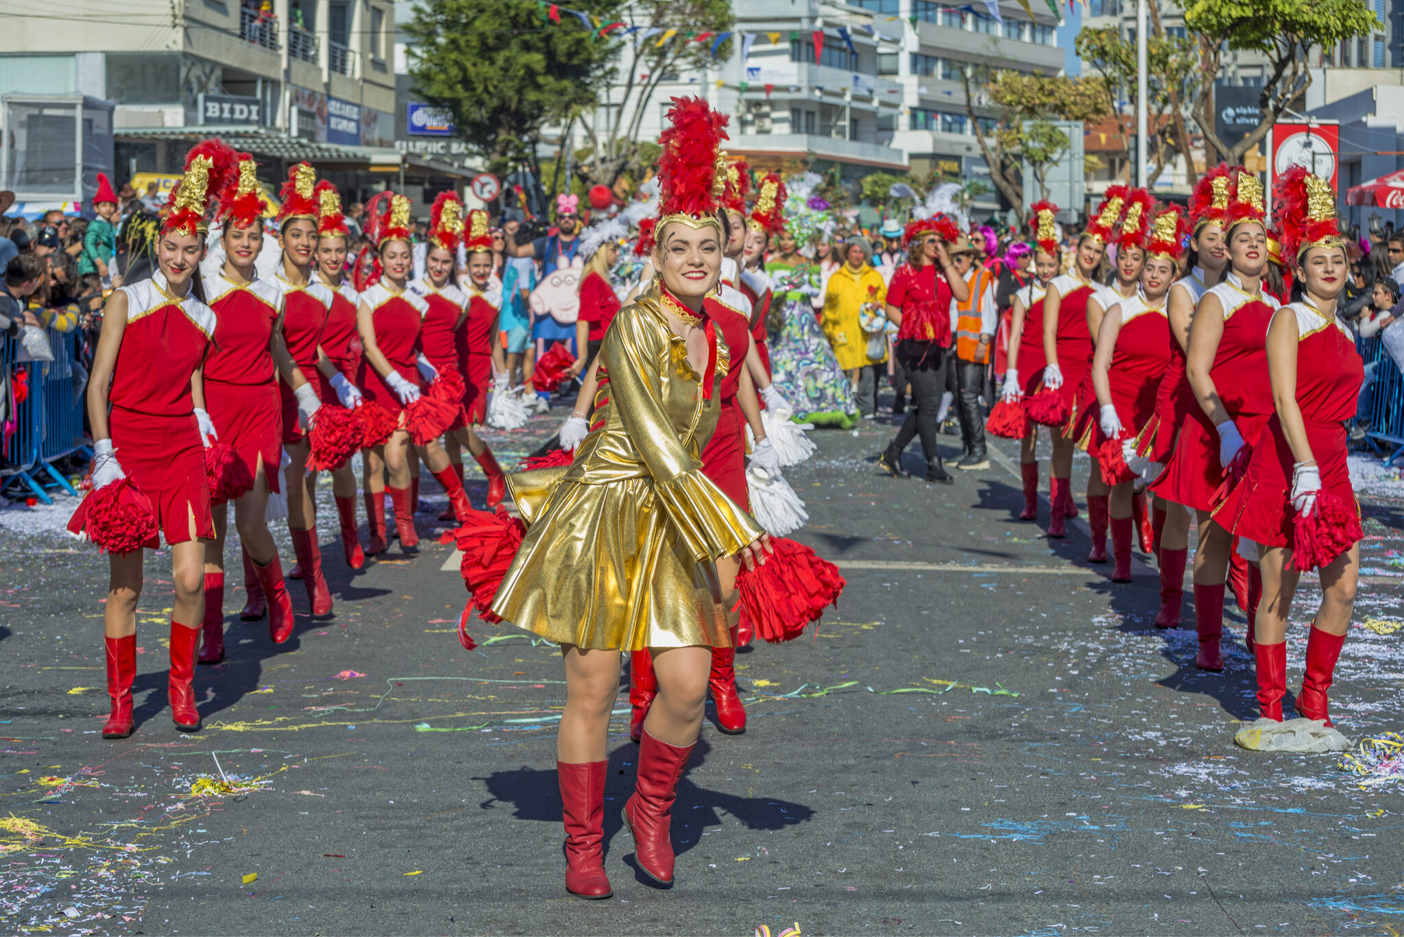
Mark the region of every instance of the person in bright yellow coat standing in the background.
[[868, 240], [852, 236], [844, 244], [844, 266], [828, 278], [820, 327], [834, 348], [838, 367], [854, 382], [858, 409], [868, 419], [878, 414], [878, 375], [887, 361], [883, 301], [887, 284], [869, 263]]

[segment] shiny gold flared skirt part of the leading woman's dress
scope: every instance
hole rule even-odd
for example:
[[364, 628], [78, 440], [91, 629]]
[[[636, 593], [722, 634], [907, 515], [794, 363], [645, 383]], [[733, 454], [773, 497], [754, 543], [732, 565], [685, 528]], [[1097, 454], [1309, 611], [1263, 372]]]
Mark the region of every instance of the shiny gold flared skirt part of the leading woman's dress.
[[731, 646], [716, 565], [692, 558], [651, 478], [555, 482], [529, 514], [493, 600], [504, 621], [598, 650]]

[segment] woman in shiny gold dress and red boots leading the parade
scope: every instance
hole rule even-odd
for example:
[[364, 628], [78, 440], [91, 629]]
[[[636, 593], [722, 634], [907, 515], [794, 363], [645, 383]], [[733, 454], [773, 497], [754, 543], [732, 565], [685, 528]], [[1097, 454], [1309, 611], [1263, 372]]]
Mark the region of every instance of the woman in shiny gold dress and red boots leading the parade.
[[[650, 649], [658, 695], [625, 805], [639, 867], [673, 881], [670, 812], [702, 728], [712, 648], [731, 643], [716, 561], [764, 562], [761, 527], [701, 472], [731, 354], [702, 301], [722, 267], [717, 221], [726, 118], [674, 98], [663, 133], [663, 199], [650, 289], [614, 319], [600, 351], [590, 435], [567, 468], [512, 475], [526, 523], [493, 612], [559, 643], [566, 711], [557, 738], [566, 888], [608, 898], [605, 743], [621, 655]], [[717, 173], [720, 167], [720, 173]]]

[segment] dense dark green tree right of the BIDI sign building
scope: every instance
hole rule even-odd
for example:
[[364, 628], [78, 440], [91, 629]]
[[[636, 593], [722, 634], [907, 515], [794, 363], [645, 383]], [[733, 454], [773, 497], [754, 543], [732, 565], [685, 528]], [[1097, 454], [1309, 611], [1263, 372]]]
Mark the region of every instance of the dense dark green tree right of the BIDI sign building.
[[[601, 24], [619, 0], [573, 0]], [[541, 129], [594, 107], [615, 69], [618, 39], [574, 17], [550, 22], [535, 0], [421, 0], [404, 24], [410, 81], [453, 115], [463, 140], [503, 174], [536, 169]]]

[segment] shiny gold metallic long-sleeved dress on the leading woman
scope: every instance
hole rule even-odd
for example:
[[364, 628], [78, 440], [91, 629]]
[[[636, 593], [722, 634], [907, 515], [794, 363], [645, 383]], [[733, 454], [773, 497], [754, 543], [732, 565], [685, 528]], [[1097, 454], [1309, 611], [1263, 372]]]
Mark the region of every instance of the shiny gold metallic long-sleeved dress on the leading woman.
[[493, 611], [556, 643], [608, 650], [731, 643], [715, 563], [761, 528], [701, 471], [727, 348], [715, 330], [708, 399], [661, 302], [656, 287], [619, 310], [605, 333], [598, 428], [574, 462], [507, 479], [526, 535]]

